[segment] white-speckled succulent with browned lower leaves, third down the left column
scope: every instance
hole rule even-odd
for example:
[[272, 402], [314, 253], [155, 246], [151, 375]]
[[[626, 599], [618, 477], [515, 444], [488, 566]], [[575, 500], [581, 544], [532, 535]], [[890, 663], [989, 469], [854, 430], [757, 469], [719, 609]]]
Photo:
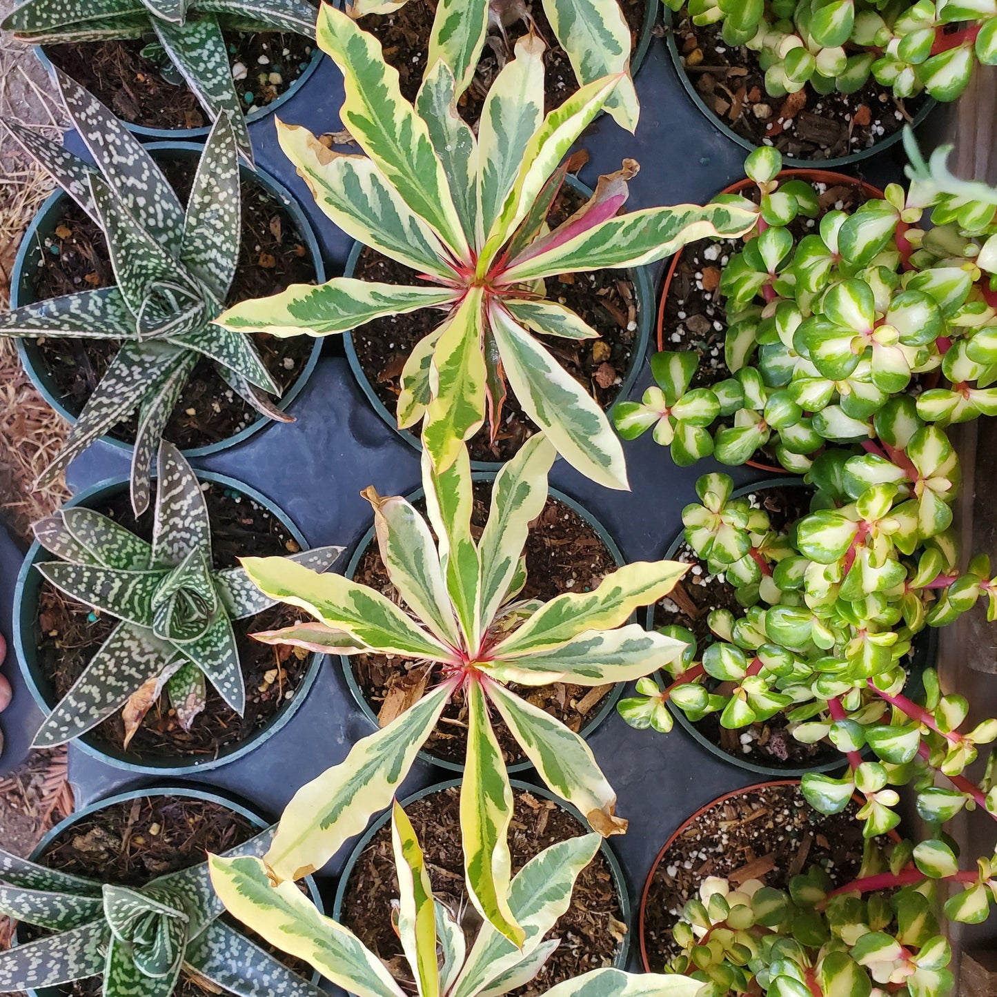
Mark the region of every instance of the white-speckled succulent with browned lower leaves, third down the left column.
[[[72, 598], [121, 620], [42, 724], [36, 746], [65, 744], [129, 703], [131, 736], [164, 688], [188, 730], [204, 708], [205, 679], [242, 713], [245, 688], [231, 621], [276, 600], [243, 568], [214, 569], [200, 483], [166, 441], [159, 468], [152, 543], [83, 506], [35, 525], [39, 543], [60, 558], [40, 562], [38, 571]], [[324, 571], [342, 549], [316, 547], [288, 559]], [[151, 686], [153, 695], [138, 695]]]

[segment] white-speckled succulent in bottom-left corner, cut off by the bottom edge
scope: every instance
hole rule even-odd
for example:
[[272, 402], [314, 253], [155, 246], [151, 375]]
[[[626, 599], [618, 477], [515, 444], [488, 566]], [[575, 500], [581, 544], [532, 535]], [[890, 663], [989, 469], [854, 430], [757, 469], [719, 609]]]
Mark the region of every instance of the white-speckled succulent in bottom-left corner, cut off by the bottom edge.
[[[262, 854], [273, 829], [226, 852]], [[0, 913], [44, 929], [0, 953], [0, 990], [42, 990], [102, 977], [104, 997], [169, 997], [186, 971], [220, 993], [321, 997], [319, 990], [221, 919], [206, 862], [145, 886], [51, 869], [0, 851]]]

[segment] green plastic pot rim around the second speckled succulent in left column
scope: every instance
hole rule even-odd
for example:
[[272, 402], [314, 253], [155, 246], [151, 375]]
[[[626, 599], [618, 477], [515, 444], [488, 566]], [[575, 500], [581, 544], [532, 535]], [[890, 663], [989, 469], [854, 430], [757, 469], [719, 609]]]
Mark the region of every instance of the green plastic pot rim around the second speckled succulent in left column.
[[[147, 148], [156, 156], [157, 160], [169, 160], [184, 155], [199, 157], [202, 149], [200, 145], [190, 142], [157, 142], [152, 143]], [[253, 171], [248, 166], [240, 164], [239, 168], [243, 178], [250, 178], [258, 182], [267, 193], [277, 198], [284, 210], [290, 215], [315, 268], [315, 281], [318, 284], [323, 283], [325, 281], [325, 264], [322, 261], [322, 253], [319, 249], [318, 240], [315, 237], [311, 222], [304, 211], [302, 211], [293, 194], [282, 183], [278, 182], [269, 173], [259, 167]], [[57, 190], [42, 204], [38, 214], [35, 215], [28, 226], [28, 230], [25, 232], [24, 239], [21, 242], [21, 247], [18, 250], [17, 258], [14, 260], [14, 269], [11, 271], [10, 307], [12, 309], [22, 305], [33, 304], [38, 300], [35, 295], [32, 277], [38, 268], [41, 254], [44, 252], [45, 240], [53, 234], [56, 225], [59, 223], [64, 205], [69, 201], [68, 194]], [[286, 410], [301, 393], [302, 388], [304, 388], [315, 370], [315, 365], [318, 363], [321, 351], [322, 341], [316, 339], [301, 372], [294, 383], [281, 396], [277, 402], [277, 408]], [[42, 360], [37, 340], [34, 338], [18, 339], [17, 352], [21, 359], [21, 365], [27, 372], [28, 377], [31, 378], [32, 384], [34, 384], [45, 398], [45, 401], [70, 425], [75, 425], [79, 413], [71, 412], [64, 404], [59, 394], [59, 388]], [[206, 457], [208, 454], [227, 450], [229, 447], [234, 447], [236, 444], [247, 440], [271, 422], [272, 420], [261, 415], [238, 433], [224, 440], [219, 440], [217, 443], [184, 450], [183, 454], [187, 458]], [[111, 444], [111, 446], [122, 450], [131, 451], [133, 449], [132, 444], [126, 443], [124, 440], [119, 440], [110, 434], [103, 436], [101, 439]]]

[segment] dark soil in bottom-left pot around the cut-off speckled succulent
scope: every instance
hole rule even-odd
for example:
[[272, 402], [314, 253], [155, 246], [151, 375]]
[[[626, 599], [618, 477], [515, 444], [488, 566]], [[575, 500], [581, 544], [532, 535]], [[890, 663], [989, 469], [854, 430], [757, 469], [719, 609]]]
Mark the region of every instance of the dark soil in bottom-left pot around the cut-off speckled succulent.
[[[210, 800], [140, 797], [112, 804], [67, 828], [45, 848], [38, 861], [49, 868], [104, 882], [144, 886], [168, 872], [199, 864], [207, 851], [227, 851], [256, 833], [246, 818]], [[222, 917], [275, 953], [285, 965], [311, 976], [306, 963], [268, 946], [227, 914]], [[25, 926], [29, 937], [45, 933]], [[100, 997], [101, 987], [102, 977], [92, 976], [61, 987], [59, 992], [67, 997]], [[184, 972], [173, 997], [215, 997], [216, 993]]]

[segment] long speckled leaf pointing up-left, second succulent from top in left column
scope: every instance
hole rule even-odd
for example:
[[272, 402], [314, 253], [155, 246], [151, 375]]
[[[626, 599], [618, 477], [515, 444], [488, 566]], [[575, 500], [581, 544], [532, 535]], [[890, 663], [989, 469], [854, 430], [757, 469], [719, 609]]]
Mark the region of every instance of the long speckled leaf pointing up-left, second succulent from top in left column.
[[107, 182], [139, 224], [171, 252], [179, 248], [183, 206], [145, 147], [97, 98], [54, 69], [63, 104]]

